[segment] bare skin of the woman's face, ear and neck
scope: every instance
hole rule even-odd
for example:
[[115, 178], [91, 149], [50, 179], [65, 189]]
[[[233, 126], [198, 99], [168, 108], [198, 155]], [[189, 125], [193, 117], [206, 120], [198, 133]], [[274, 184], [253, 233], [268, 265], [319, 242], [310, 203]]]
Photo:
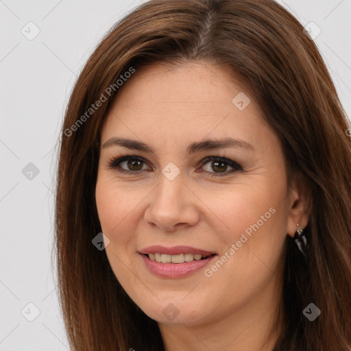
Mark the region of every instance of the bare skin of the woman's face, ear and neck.
[[[294, 176], [288, 189], [278, 137], [250, 92], [231, 77], [205, 62], [138, 69], [119, 90], [101, 131], [101, 145], [123, 137], [154, 149], [101, 148], [96, 202], [112, 270], [130, 298], [158, 322], [167, 351], [272, 350], [283, 324], [278, 308], [285, 240], [297, 223], [308, 223], [311, 208], [302, 181]], [[240, 92], [251, 99], [244, 110], [232, 103]], [[254, 150], [187, 155], [195, 141], [226, 137]], [[108, 167], [119, 153], [136, 154], [145, 163], [131, 170], [122, 162], [130, 173], [119, 173]], [[233, 160], [243, 171], [230, 173], [228, 165], [221, 175], [223, 168], [212, 161], [200, 164], [206, 156]], [[162, 173], [169, 162], [180, 170], [173, 180]], [[149, 245], [189, 245], [220, 257], [269, 208], [275, 213], [213, 276], [200, 269], [184, 278], [160, 278], [138, 254]], [[173, 320], [162, 313], [169, 304], [179, 311]]]

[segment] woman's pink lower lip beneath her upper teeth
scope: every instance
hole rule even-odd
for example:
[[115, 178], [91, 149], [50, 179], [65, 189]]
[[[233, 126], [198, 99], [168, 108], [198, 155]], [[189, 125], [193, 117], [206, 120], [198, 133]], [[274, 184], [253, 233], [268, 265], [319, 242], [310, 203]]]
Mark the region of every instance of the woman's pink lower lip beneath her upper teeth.
[[208, 258], [204, 258], [204, 260], [194, 260], [184, 263], [160, 263], [150, 260], [147, 255], [141, 254], [146, 267], [152, 271], [152, 273], [156, 274], [156, 276], [163, 278], [183, 278], [185, 276], [189, 276], [190, 274], [195, 273], [195, 271], [204, 268], [216, 256], [217, 255], [213, 255]]

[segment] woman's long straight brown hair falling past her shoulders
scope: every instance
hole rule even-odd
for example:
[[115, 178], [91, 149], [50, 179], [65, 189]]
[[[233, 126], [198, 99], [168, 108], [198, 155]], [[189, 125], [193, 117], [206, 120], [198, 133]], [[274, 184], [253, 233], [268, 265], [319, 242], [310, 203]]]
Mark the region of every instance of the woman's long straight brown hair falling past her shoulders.
[[[121, 75], [191, 60], [226, 66], [247, 84], [289, 169], [311, 190], [306, 258], [287, 237], [286, 328], [274, 350], [351, 350], [350, 123], [313, 40], [272, 0], [149, 1], [119, 21], [84, 66], [66, 108], [56, 197], [59, 298], [71, 350], [163, 350], [156, 321], [92, 245], [101, 232], [97, 145]], [[322, 311], [313, 322], [302, 314], [311, 302]]]

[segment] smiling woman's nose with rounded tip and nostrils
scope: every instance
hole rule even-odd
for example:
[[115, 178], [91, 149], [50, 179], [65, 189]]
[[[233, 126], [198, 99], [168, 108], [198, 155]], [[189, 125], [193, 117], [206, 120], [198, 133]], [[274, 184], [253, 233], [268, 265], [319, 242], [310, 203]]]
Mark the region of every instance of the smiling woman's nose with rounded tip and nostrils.
[[150, 204], [145, 210], [145, 221], [167, 232], [174, 232], [199, 221], [199, 199], [184, 183], [181, 174], [169, 180], [160, 175], [160, 183], [149, 196]]

